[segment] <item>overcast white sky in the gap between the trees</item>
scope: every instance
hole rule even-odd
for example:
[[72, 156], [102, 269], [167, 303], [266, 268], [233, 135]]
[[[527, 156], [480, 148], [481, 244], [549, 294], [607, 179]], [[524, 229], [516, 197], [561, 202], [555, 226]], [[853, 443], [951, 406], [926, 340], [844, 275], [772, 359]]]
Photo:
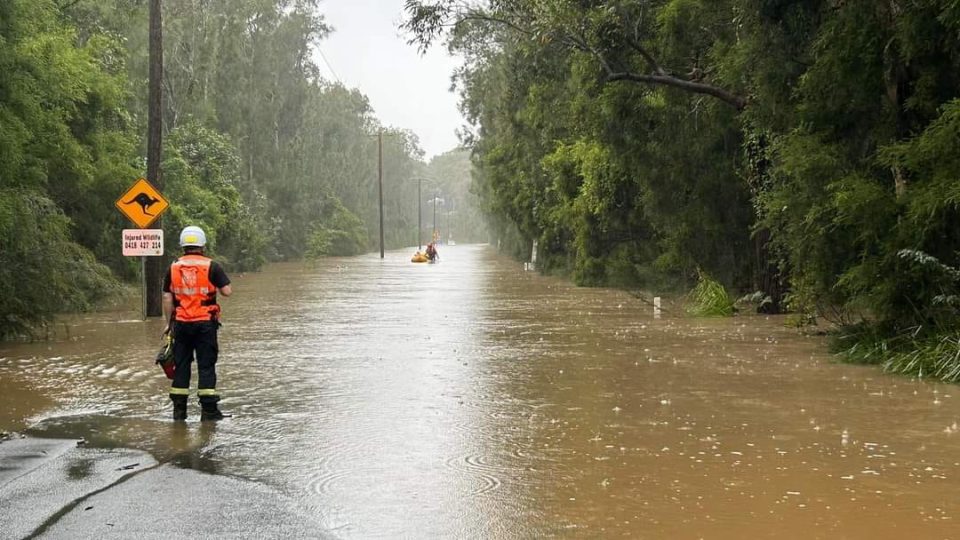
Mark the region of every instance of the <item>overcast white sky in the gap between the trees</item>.
[[359, 88], [386, 125], [420, 137], [427, 160], [457, 147], [456, 130], [464, 122], [450, 76], [458, 62], [443, 47], [420, 56], [397, 29], [404, 0], [323, 0], [320, 11], [333, 34], [320, 50], [336, 73], [317, 55], [331, 80]]

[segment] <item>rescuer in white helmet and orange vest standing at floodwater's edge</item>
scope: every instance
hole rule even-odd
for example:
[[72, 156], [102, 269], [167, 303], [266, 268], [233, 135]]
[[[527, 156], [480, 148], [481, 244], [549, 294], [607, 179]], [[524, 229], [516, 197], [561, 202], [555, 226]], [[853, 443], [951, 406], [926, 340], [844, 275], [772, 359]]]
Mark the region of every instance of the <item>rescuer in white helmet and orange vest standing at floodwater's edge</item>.
[[197, 357], [197, 396], [200, 420], [221, 420], [217, 403], [217, 331], [220, 329], [220, 305], [217, 293], [230, 296], [230, 278], [223, 268], [203, 253], [207, 236], [200, 227], [186, 227], [180, 233], [183, 256], [177, 259], [163, 278], [163, 313], [169, 321], [164, 334], [173, 332], [173, 357], [176, 369], [170, 385], [173, 419], [187, 419], [190, 397], [190, 364]]

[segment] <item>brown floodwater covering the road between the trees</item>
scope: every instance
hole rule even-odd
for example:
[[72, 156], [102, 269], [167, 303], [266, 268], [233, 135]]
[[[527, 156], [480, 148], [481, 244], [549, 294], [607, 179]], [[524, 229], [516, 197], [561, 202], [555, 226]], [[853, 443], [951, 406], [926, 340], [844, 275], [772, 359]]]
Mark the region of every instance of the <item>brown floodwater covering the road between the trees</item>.
[[0, 345], [0, 429], [250, 478], [342, 538], [960, 537], [956, 386], [441, 254], [232, 276], [215, 426], [169, 421], [159, 321]]

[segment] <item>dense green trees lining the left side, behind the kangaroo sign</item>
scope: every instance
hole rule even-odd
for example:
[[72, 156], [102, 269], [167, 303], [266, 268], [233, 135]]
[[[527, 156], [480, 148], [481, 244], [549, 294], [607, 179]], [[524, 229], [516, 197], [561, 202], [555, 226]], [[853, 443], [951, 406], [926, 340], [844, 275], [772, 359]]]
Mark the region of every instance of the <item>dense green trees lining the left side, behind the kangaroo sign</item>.
[[[415, 242], [411, 179], [430, 167], [416, 135], [320, 76], [320, 2], [163, 4], [168, 253], [185, 224], [233, 270], [375, 248], [381, 129], [386, 245]], [[0, 338], [136, 278], [113, 203], [146, 168], [147, 20], [143, 0], [0, 2]]]

